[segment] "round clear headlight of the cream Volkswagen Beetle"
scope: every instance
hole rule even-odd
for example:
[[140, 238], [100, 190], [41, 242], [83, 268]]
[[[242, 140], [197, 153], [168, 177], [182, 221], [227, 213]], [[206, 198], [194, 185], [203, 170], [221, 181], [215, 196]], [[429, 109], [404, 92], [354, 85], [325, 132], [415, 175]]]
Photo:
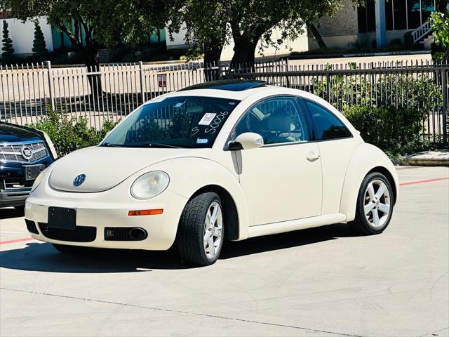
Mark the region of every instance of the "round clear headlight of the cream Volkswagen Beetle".
[[145, 173], [135, 180], [131, 186], [131, 194], [136, 199], [150, 199], [161, 194], [168, 186], [170, 178], [162, 171]]

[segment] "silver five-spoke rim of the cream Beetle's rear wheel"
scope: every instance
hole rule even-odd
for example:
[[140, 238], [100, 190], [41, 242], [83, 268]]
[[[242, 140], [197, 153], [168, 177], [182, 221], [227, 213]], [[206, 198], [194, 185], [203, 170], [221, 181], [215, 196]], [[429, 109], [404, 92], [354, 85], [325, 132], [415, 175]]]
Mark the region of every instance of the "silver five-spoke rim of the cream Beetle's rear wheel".
[[368, 223], [373, 227], [382, 227], [388, 220], [390, 209], [390, 193], [387, 184], [380, 179], [370, 181], [366, 187], [363, 202], [363, 211]]

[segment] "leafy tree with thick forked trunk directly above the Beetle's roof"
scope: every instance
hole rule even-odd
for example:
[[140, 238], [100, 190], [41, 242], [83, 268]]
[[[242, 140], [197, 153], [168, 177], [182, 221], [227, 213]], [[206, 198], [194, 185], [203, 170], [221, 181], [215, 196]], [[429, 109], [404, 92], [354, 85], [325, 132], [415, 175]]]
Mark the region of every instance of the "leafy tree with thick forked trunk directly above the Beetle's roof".
[[[354, 0], [356, 1], [356, 0]], [[331, 15], [342, 6], [341, 0], [178, 0], [170, 15], [171, 28], [178, 29], [185, 22], [187, 40], [196, 37], [204, 43], [205, 60], [215, 50], [234, 39], [232, 63], [254, 62], [257, 42], [261, 51], [268, 46], [279, 48], [286, 39], [296, 39], [305, 29], [305, 22], [314, 22], [323, 15]], [[206, 9], [204, 9], [206, 8]], [[205, 15], [207, 13], [207, 15]], [[230, 34], [228, 27], [231, 28]], [[274, 29], [281, 31], [281, 39], [272, 41]]]

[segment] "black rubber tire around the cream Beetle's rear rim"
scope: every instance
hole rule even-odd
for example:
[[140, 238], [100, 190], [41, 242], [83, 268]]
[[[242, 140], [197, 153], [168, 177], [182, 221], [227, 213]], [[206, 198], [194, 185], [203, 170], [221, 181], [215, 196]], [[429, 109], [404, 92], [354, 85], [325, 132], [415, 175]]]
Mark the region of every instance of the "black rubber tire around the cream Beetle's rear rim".
[[[384, 223], [378, 227], [374, 226], [370, 221], [366, 218], [365, 212], [364, 212], [364, 206], [368, 202], [368, 199], [366, 199], [366, 193], [368, 185], [372, 182], [378, 182], [382, 181], [387, 186], [388, 194], [389, 194], [389, 213], [387, 214], [387, 217], [384, 218]], [[383, 197], [384, 201], [386, 197]], [[373, 204], [375, 204], [375, 201], [371, 201]], [[382, 202], [382, 201], [381, 201]], [[375, 207], [373, 208], [374, 211], [376, 211], [376, 206], [378, 208], [378, 204], [375, 204]], [[356, 207], [356, 218], [354, 221], [349, 222], [349, 227], [351, 227], [351, 230], [356, 232], [357, 234], [361, 235], [373, 235], [373, 234], [380, 234], [382, 233], [385, 228], [389, 225], [389, 222], [391, 220], [391, 214], [393, 214], [393, 206], [394, 206], [394, 194], [393, 190], [391, 188], [391, 184], [389, 183], [389, 180], [379, 172], [373, 172], [369, 173], [365, 178], [363, 178], [363, 181], [360, 186], [360, 190], [358, 191], [358, 197], [357, 197], [357, 207]], [[377, 211], [378, 213], [378, 211]], [[378, 213], [379, 214], [379, 213]], [[382, 214], [382, 217], [384, 216], [384, 213]], [[371, 217], [372, 215], [368, 213], [368, 217]], [[382, 220], [382, 218], [381, 218]], [[374, 222], [374, 220], [373, 220]]]

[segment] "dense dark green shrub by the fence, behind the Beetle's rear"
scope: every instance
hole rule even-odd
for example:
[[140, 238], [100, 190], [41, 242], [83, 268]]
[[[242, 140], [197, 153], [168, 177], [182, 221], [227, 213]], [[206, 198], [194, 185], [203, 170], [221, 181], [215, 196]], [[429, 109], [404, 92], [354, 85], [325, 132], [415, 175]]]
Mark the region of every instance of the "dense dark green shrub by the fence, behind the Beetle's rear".
[[366, 143], [380, 147], [390, 157], [429, 147], [419, 138], [423, 118], [419, 110], [391, 105], [354, 106], [345, 110], [344, 116], [360, 131]]

